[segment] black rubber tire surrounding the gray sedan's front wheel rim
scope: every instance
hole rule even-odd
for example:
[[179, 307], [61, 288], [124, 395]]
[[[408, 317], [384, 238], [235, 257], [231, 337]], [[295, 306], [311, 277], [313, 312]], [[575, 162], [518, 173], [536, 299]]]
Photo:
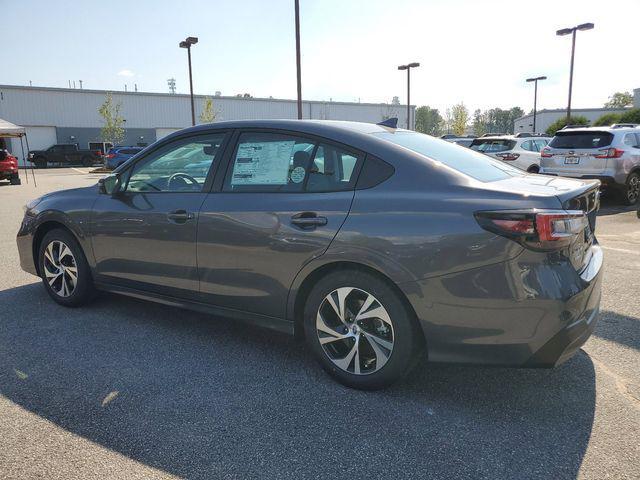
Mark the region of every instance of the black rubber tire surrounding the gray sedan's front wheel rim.
[[[54, 292], [49, 286], [49, 282], [44, 274], [44, 251], [47, 245], [55, 240], [65, 243], [67, 247], [71, 249], [76, 260], [76, 267], [78, 268], [76, 289], [68, 297], [61, 297]], [[92, 298], [94, 289], [89, 264], [87, 263], [87, 259], [82, 251], [82, 247], [80, 247], [78, 241], [68, 231], [63, 229], [54, 229], [47, 232], [38, 246], [38, 267], [45, 290], [49, 296], [60, 305], [64, 305], [65, 307], [78, 307]]]

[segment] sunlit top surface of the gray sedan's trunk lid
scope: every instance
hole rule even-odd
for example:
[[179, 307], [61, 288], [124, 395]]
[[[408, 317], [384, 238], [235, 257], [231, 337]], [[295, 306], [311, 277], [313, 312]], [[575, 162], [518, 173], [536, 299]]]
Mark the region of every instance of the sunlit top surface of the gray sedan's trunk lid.
[[531, 174], [492, 182], [492, 189], [513, 192], [525, 196], [557, 197], [562, 203], [597, 188], [599, 180], [578, 180]]

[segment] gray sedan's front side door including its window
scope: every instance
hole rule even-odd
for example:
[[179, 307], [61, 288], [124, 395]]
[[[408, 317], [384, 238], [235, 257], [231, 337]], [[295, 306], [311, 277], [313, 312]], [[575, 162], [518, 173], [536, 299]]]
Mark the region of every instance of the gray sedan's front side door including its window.
[[173, 140], [121, 173], [92, 217], [97, 280], [181, 297], [198, 292], [196, 231], [224, 133]]

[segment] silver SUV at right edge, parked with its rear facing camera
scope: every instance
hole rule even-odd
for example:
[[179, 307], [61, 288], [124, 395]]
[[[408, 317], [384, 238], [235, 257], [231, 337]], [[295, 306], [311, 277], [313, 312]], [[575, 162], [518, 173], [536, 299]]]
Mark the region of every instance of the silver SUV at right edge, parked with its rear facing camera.
[[640, 194], [640, 128], [563, 128], [540, 152], [540, 173], [573, 178], [596, 178], [635, 205]]

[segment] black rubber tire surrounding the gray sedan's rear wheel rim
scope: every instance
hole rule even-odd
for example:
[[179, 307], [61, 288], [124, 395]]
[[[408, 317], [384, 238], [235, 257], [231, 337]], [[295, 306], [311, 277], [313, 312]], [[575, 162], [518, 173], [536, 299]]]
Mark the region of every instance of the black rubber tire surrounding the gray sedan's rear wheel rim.
[[[324, 298], [340, 287], [362, 289], [378, 299], [393, 322], [394, 345], [387, 363], [377, 372], [355, 375], [338, 368], [325, 354], [316, 333], [318, 308]], [[363, 390], [384, 388], [406, 375], [422, 343], [422, 332], [402, 299], [384, 280], [367, 272], [341, 270], [322, 278], [311, 290], [304, 308], [305, 338], [324, 370], [340, 383]]]

